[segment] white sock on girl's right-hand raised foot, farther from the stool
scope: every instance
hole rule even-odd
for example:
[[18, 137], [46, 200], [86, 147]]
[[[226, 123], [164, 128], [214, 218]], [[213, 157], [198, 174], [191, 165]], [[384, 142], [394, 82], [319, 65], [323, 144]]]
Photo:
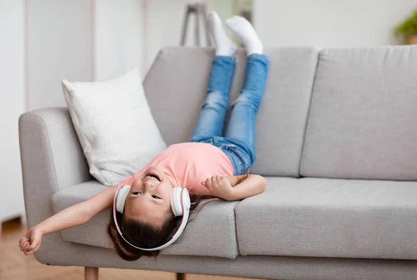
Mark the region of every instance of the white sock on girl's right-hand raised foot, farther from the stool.
[[236, 35], [236, 37], [245, 45], [247, 55], [252, 53], [263, 53], [263, 44], [259, 39], [254, 27], [245, 17], [235, 15], [226, 20], [227, 27]]

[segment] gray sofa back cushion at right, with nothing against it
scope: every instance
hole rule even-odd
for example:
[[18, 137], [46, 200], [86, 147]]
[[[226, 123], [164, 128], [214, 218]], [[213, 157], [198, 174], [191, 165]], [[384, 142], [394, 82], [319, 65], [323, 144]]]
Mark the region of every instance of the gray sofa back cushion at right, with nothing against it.
[[417, 179], [417, 47], [324, 49], [301, 175]]

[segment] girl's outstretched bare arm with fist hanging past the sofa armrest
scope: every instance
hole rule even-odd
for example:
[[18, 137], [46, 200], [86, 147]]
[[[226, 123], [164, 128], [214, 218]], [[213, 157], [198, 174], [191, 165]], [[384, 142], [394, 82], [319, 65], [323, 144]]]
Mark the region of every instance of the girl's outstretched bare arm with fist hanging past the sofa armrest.
[[65, 208], [63, 211], [35, 225], [19, 241], [20, 250], [26, 255], [33, 254], [38, 251], [42, 236], [45, 234], [85, 224], [92, 217], [113, 205], [116, 189], [117, 186], [106, 188], [106, 190], [102, 190], [90, 199]]

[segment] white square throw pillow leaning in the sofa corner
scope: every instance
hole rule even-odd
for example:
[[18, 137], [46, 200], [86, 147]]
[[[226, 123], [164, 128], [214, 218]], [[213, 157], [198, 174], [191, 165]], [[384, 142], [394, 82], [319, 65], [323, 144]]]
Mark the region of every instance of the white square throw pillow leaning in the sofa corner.
[[166, 148], [138, 69], [104, 82], [63, 80], [65, 101], [90, 173], [114, 186]]

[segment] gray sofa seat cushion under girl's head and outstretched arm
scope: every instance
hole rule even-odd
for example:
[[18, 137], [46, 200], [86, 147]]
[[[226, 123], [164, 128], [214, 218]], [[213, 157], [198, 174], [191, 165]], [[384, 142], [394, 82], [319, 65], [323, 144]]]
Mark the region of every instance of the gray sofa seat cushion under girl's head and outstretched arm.
[[[107, 187], [97, 181], [88, 181], [60, 190], [52, 197], [54, 213], [85, 201], [104, 188]], [[238, 201], [215, 199], [200, 208], [197, 214], [191, 213], [191, 221], [183, 235], [161, 254], [236, 258], [238, 245], [234, 208], [237, 204]], [[111, 248], [111, 240], [106, 233], [110, 215], [111, 209], [108, 208], [93, 217], [90, 222], [60, 231], [60, 234], [65, 241]]]

